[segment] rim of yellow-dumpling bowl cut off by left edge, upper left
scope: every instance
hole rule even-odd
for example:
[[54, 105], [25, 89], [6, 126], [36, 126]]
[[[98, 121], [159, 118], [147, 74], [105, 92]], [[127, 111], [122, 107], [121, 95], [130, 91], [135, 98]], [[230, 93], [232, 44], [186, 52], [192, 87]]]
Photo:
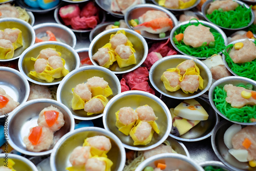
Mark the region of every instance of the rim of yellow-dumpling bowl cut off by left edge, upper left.
[[[31, 43], [30, 43], [29, 47], [34, 45], [34, 42], [35, 42], [35, 31], [34, 31], [33, 27], [29, 23], [27, 23], [24, 20], [19, 19], [19, 18], [0, 18], [0, 24], [1, 23], [5, 23], [5, 22], [15, 22], [15, 23], [19, 23], [19, 24], [22, 24], [23, 26], [25, 26], [29, 30], [29, 32], [31, 33]], [[25, 49], [24, 51], [26, 51], [27, 49]], [[22, 54], [20, 54], [19, 56], [16, 56], [16, 57], [12, 57], [11, 59], [0, 59], [0, 62], [15, 60], [15, 59], [20, 58], [21, 56], [22, 56]]]

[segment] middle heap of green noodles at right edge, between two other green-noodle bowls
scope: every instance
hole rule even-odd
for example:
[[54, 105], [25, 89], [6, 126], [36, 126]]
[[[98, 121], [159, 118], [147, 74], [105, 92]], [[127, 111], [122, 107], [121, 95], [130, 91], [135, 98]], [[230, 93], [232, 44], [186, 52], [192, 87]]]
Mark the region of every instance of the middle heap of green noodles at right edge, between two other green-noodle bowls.
[[[254, 44], [256, 46], [256, 42], [254, 41]], [[244, 62], [244, 63], [234, 63], [231, 57], [229, 56], [229, 52], [231, 48], [234, 45], [230, 44], [226, 46], [223, 54], [226, 56], [226, 62], [228, 67], [236, 73], [238, 76], [250, 78], [254, 81], [256, 81], [256, 59], [250, 61], [250, 62]], [[229, 49], [229, 50], [228, 50]], [[228, 52], [227, 52], [228, 50]]]

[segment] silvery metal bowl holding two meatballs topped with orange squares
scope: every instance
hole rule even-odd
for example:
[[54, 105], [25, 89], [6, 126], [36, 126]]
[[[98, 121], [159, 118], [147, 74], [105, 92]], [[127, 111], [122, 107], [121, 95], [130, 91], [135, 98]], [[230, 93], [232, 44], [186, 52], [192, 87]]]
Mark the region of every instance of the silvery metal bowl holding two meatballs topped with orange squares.
[[[47, 151], [30, 152], [26, 148], [23, 139], [29, 134], [29, 130], [37, 126], [39, 113], [44, 108], [53, 105], [58, 108], [64, 116], [65, 124], [54, 133], [53, 144]], [[70, 110], [63, 104], [51, 99], [35, 99], [19, 105], [13, 110], [13, 115], [8, 118], [8, 143], [18, 152], [29, 156], [42, 156], [52, 153], [56, 142], [68, 132], [75, 128], [75, 121]]]

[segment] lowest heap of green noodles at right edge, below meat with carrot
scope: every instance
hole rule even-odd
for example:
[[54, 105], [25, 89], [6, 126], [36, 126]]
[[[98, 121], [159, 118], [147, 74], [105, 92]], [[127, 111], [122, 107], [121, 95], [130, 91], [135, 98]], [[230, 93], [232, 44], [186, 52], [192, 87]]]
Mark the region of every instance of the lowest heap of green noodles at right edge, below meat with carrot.
[[[245, 86], [240, 85], [238, 87]], [[256, 119], [256, 105], [245, 105], [242, 108], [233, 108], [230, 103], [226, 101], [227, 93], [223, 88], [216, 87], [214, 89], [214, 102], [216, 108], [228, 119], [237, 122], [250, 123], [252, 119]]]

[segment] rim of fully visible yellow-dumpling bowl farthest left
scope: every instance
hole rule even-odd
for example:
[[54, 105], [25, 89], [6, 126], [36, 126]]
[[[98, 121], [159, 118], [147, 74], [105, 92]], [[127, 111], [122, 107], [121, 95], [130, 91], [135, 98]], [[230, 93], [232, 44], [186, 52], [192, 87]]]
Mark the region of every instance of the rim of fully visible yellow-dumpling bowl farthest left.
[[[44, 46], [44, 45], [58, 45], [58, 46], [62, 46], [66, 49], [68, 49], [70, 52], [73, 53], [74, 57], [75, 57], [75, 60], [76, 60], [76, 65], [74, 67], [74, 70], [76, 70], [77, 68], [79, 68], [79, 65], [80, 65], [80, 58], [79, 58], [79, 55], [76, 53], [76, 51], [69, 45], [63, 43], [63, 42], [58, 42], [58, 41], [43, 41], [43, 42], [38, 42], [37, 44], [34, 44], [30, 47], [28, 47], [21, 55], [21, 57], [19, 58], [18, 60], [18, 69], [20, 71], [20, 73], [25, 76], [27, 78], [27, 80], [33, 82], [33, 83], [36, 83], [36, 84], [40, 84], [40, 85], [43, 85], [43, 86], [52, 86], [52, 85], [56, 85], [56, 84], [59, 84], [61, 82], [60, 81], [57, 81], [57, 82], [39, 82], [39, 81], [35, 81], [33, 80], [32, 78], [28, 77], [24, 71], [23, 71], [23, 59], [25, 57], [25, 55], [30, 51], [30, 50], [33, 50], [34, 48], [37, 48], [37, 47], [40, 47], [40, 46]], [[38, 52], [39, 54], [39, 52]], [[64, 77], [65, 78], [65, 77]], [[62, 78], [63, 79], [63, 78]]]

